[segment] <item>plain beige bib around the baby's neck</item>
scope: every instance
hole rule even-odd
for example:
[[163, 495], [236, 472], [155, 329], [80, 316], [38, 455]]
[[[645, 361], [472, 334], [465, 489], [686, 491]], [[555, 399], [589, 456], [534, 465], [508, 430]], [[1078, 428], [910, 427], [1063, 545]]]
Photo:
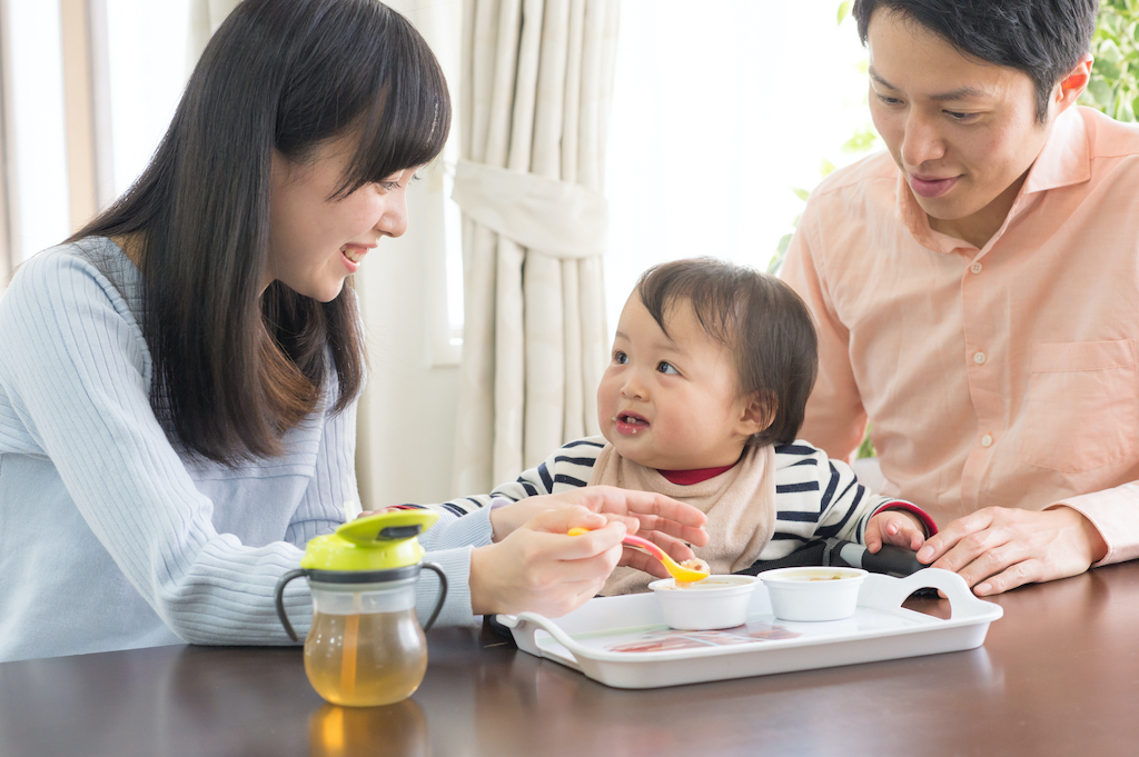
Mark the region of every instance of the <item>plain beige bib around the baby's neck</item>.
[[[708, 517], [706, 546], [693, 548], [713, 575], [743, 570], [771, 540], [776, 521], [776, 452], [770, 444], [749, 446], [730, 470], [699, 484], [673, 484], [658, 471], [622, 458], [606, 444], [593, 464], [590, 486], [606, 485], [657, 492], [687, 502]], [[654, 576], [618, 567], [601, 589], [604, 596], [647, 591]]]

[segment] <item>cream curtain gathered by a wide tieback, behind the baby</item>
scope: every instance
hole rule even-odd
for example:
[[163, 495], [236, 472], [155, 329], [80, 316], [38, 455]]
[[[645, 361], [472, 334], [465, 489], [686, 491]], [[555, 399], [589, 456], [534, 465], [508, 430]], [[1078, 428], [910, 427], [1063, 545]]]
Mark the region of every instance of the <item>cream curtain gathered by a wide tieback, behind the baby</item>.
[[605, 139], [620, 0], [466, 0], [465, 326], [453, 488], [598, 434]]

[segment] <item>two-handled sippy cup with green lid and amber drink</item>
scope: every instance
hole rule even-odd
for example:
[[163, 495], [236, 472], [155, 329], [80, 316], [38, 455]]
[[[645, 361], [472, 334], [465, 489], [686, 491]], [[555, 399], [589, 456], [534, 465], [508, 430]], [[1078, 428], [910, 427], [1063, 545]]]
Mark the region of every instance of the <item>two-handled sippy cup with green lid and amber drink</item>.
[[395, 510], [346, 523], [305, 548], [301, 569], [277, 582], [277, 616], [293, 641], [285, 615], [285, 585], [309, 579], [312, 627], [304, 641], [304, 670], [334, 705], [374, 707], [407, 699], [427, 672], [427, 639], [416, 616], [420, 568], [439, 575], [440, 591], [427, 628], [446, 599], [442, 568], [423, 562], [416, 538], [439, 515]]

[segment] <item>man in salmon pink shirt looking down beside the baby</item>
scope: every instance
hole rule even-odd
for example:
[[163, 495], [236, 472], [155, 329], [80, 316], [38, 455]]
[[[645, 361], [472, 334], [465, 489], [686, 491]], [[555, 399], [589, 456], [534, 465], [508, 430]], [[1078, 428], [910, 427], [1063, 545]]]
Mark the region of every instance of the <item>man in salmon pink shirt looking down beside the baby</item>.
[[1139, 129], [1076, 106], [1096, 0], [859, 0], [888, 154], [831, 174], [784, 278], [802, 436], [942, 530], [978, 595], [1139, 557]]

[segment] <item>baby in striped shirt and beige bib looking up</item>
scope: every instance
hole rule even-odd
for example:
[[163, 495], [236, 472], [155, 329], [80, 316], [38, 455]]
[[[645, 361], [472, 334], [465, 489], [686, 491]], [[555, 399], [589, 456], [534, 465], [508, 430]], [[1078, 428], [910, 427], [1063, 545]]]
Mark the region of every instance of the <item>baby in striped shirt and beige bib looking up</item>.
[[[603, 437], [571, 442], [469, 511], [572, 487], [658, 492], [699, 508], [713, 574], [836, 536], [917, 550], [936, 533], [916, 505], [870, 494], [845, 462], [796, 441], [818, 365], [806, 306], [782, 281], [711, 258], [649, 269], [617, 322], [597, 390]], [[603, 594], [645, 591], [614, 570]]]

